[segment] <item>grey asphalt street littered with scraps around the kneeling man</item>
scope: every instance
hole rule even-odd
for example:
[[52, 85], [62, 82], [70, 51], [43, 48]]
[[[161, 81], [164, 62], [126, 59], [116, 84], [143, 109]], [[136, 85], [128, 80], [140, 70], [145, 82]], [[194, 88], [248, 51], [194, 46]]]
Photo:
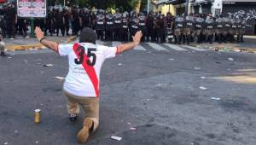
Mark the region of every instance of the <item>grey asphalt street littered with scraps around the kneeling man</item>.
[[[54, 78], [67, 71], [49, 49], [0, 57], [0, 144], [77, 144], [83, 114], [68, 124]], [[101, 79], [100, 128], [87, 144], [256, 144], [255, 54], [147, 43], [106, 61]]]

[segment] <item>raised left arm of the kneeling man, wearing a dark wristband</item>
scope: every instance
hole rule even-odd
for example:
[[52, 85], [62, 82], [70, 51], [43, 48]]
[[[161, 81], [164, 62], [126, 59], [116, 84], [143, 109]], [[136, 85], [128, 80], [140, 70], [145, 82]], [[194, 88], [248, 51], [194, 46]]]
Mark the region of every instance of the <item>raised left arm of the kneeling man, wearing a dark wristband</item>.
[[35, 33], [36, 33], [36, 36], [38, 38], [38, 41], [43, 44], [45, 47], [49, 48], [49, 49], [52, 49], [56, 52], [58, 52], [58, 43], [56, 42], [52, 42], [52, 41], [49, 41], [49, 40], [46, 40], [44, 38], [44, 32], [42, 32], [42, 30], [37, 26], [36, 27], [36, 30], [35, 30]]

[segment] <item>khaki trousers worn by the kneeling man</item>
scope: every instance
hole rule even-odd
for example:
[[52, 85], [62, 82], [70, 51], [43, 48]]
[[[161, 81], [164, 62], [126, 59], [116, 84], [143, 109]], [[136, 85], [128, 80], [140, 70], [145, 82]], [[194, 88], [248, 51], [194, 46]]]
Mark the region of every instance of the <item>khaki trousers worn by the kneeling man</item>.
[[93, 131], [99, 126], [99, 98], [73, 96], [64, 91], [67, 96], [67, 112], [72, 114], [79, 114], [79, 105], [84, 109], [85, 117], [93, 120]]

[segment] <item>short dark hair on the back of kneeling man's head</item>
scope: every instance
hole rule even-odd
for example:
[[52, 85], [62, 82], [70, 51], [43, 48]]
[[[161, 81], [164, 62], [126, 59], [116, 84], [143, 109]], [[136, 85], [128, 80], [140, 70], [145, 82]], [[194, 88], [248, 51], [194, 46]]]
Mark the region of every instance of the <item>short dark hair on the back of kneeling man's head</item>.
[[97, 34], [89, 27], [84, 27], [80, 33], [79, 43], [96, 44]]

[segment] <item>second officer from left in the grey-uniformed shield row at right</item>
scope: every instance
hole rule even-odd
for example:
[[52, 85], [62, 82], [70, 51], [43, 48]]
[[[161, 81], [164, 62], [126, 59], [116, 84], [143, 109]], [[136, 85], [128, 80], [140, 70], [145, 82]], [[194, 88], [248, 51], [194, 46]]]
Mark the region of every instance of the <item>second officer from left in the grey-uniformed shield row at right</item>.
[[185, 25], [184, 25], [184, 31], [183, 36], [186, 38], [187, 44], [190, 44], [190, 38], [193, 34], [195, 26], [195, 19], [193, 14], [189, 14], [185, 17]]

